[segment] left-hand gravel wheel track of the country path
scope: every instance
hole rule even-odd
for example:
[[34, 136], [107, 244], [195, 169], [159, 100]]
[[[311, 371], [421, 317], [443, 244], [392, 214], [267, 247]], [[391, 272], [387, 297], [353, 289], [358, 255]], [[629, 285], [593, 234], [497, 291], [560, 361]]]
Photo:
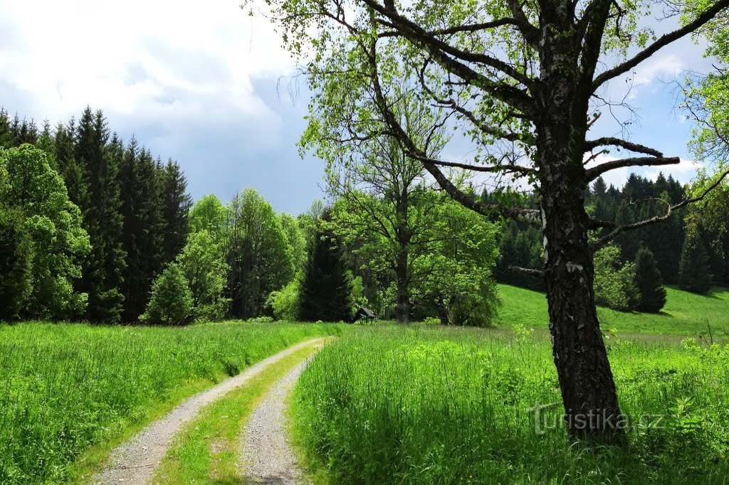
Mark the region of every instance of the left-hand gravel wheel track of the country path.
[[152, 479], [155, 468], [160, 460], [165, 457], [172, 438], [182, 429], [182, 426], [195, 418], [200, 409], [223, 395], [229, 393], [235, 387], [240, 387], [253, 376], [260, 374], [266, 367], [278, 360], [290, 355], [303, 347], [320, 344], [327, 340], [312, 339], [307, 342], [296, 344], [276, 355], [261, 360], [250, 366], [235, 377], [231, 377], [219, 385], [211, 387], [203, 393], [196, 394], [179, 406], [170, 411], [163, 419], [152, 422], [141, 430], [138, 435], [127, 443], [118, 446], [109, 457], [104, 470], [91, 478], [92, 484], [148, 484]]

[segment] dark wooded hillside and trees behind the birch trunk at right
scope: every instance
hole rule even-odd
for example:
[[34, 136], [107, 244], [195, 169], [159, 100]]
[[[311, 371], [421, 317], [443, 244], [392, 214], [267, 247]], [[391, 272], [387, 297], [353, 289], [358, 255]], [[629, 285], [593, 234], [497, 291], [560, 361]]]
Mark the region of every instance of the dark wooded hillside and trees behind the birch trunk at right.
[[[673, 176], [659, 173], [656, 180], [631, 173], [625, 185], [607, 186], [599, 177], [585, 192], [590, 215], [602, 221], [634, 224], [665, 213], [666, 204], [685, 200], [687, 186]], [[727, 208], [725, 186], [714, 193], [712, 210], [699, 205], [687, 213], [672, 213], [663, 224], [644, 226], [623, 232], [612, 248], [596, 253], [596, 299], [615, 309], [641, 309], [641, 292], [637, 281], [658, 281], [696, 293], [706, 293], [712, 285], [729, 285], [729, 233], [718, 213]], [[484, 193], [488, 202], [491, 194]], [[525, 197], [526, 207], [536, 207], [534, 196]], [[597, 240], [607, 229], [594, 231]], [[508, 221], [499, 233], [499, 258], [494, 275], [502, 283], [537, 290], [544, 289], [541, 277], [514, 271], [514, 267], [542, 266], [542, 233], [531, 224]], [[614, 249], [613, 249], [614, 248]], [[650, 277], [649, 277], [650, 275]], [[622, 278], [622, 280], [620, 280]], [[665, 292], [664, 292], [665, 293]], [[650, 307], [660, 310], [656, 304]]]

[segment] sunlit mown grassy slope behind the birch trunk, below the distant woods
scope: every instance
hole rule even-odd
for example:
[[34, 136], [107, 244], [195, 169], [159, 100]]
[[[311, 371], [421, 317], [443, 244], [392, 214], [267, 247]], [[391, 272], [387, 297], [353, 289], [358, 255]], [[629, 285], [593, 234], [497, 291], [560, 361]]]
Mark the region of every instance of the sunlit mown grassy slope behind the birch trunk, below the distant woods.
[[[705, 334], [706, 323], [714, 336], [726, 336], [729, 331], [729, 290], [715, 288], [709, 295], [697, 295], [667, 288], [668, 301], [658, 314], [617, 312], [598, 308], [604, 331], [612, 328], [628, 334], [690, 335]], [[503, 305], [499, 311], [498, 326], [522, 325], [527, 328], [546, 328], [547, 299], [544, 293], [510, 285], [499, 285]]]

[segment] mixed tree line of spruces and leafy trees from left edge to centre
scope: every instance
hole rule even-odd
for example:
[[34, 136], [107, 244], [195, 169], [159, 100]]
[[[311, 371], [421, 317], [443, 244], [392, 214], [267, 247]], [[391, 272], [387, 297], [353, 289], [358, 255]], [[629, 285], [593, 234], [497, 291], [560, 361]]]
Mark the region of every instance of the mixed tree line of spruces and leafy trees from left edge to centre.
[[176, 162], [124, 143], [90, 108], [42, 130], [0, 111], [0, 140], [2, 320], [494, 315], [496, 224], [434, 191], [394, 146], [372, 154], [389, 165], [380, 184], [330, 173], [332, 202], [293, 217], [254, 189], [192, 204]]

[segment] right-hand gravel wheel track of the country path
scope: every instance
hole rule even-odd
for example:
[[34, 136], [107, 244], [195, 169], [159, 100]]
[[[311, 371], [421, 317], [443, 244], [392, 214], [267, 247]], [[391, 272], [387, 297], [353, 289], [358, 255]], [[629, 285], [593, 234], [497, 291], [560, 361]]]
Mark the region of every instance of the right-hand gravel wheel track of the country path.
[[296, 457], [286, 441], [286, 396], [296, 384], [309, 359], [276, 382], [265, 395], [243, 433], [246, 483], [307, 484]]

